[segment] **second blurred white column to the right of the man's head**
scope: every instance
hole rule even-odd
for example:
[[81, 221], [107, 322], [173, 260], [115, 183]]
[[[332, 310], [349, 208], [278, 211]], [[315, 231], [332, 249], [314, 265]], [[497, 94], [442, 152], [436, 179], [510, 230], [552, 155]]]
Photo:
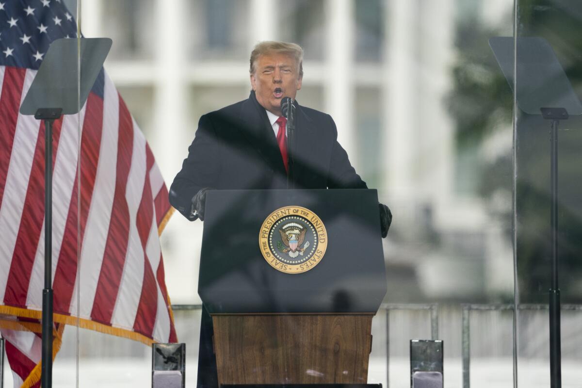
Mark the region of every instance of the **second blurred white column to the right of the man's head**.
[[416, 122], [414, 90], [417, 76], [416, 1], [394, 0], [386, 6], [384, 86], [382, 87], [382, 151], [385, 155], [384, 193], [392, 200], [410, 202], [414, 195], [413, 166]]

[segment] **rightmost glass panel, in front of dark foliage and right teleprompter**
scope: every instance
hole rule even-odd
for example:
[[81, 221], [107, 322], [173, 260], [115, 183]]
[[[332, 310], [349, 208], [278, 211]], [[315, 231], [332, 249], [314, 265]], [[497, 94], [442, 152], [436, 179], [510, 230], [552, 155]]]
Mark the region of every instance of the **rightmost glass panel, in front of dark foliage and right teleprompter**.
[[[581, 356], [574, 333], [579, 328], [582, 268], [577, 184], [582, 113], [577, 36], [582, 6], [574, 1], [519, 0], [516, 9], [519, 383], [559, 386], [561, 379], [563, 386], [573, 386]], [[552, 301], [552, 295], [559, 299]], [[561, 341], [556, 332], [560, 328]], [[552, 338], [552, 333], [558, 335]]]

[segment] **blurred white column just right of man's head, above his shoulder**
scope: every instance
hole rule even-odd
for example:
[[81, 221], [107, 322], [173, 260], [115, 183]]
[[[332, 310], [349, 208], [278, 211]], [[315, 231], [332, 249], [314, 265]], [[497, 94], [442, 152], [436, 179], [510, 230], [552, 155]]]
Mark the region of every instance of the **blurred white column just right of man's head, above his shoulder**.
[[[327, 52], [325, 53], [325, 112], [329, 113], [338, 127], [338, 140], [346, 149], [352, 163], [357, 161], [354, 144], [353, 119], [353, 52], [354, 16], [350, 0], [327, 0]], [[357, 166], [356, 166], [357, 167]]]

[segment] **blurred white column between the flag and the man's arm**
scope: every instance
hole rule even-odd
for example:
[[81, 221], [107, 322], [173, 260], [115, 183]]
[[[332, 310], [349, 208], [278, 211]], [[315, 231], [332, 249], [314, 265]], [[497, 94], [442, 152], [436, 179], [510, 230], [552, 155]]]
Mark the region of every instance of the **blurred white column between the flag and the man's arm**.
[[[157, 0], [155, 47], [154, 131], [150, 147], [164, 175], [168, 188], [187, 156], [187, 147], [194, 138], [197, 123], [187, 121], [189, 84], [185, 81], [187, 58], [184, 37], [186, 29], [199, 28], [187, 24], [184, 2], [189, 0]], [[168, 293], [173, 302], [199, 303], [198, 267], [202, 223], [191, 223], [176, 212], [161, 236]], [[171, 280], [171, 281], [170, 281]]]

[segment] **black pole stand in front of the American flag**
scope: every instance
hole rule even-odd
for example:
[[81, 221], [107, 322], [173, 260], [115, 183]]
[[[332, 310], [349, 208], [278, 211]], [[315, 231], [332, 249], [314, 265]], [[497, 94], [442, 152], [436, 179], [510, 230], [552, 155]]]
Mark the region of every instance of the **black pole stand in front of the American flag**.
[[44, 120], [44, 290], [42, 290], [41, 386], [52, 386], [52, 124], [61, 117], [61, 108], [38, 109]]

